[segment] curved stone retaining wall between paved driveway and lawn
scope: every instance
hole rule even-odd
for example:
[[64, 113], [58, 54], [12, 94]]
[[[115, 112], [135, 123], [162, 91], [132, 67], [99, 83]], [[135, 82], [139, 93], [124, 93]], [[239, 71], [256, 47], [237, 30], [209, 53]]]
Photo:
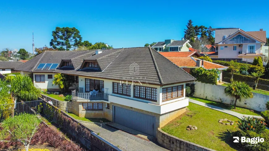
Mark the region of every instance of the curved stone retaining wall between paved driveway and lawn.
[[173, 151], [216, 151], [214, 149], [182, 140], [162, 131], [160, 128], [158, 128], [157, 140], [161, 146]]

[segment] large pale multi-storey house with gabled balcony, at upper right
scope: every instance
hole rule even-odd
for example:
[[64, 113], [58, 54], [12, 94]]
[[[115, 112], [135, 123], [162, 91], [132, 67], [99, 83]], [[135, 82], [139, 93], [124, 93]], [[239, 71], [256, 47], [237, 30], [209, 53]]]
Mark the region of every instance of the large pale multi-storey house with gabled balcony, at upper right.
[[211, 28], [215, 31], [215, 52], [218, 58], [244, 58], [253, 60], [254, 57], [264, 57], [261, 52], [266, 43], [266, 31], [244, 31], [240, 28]]

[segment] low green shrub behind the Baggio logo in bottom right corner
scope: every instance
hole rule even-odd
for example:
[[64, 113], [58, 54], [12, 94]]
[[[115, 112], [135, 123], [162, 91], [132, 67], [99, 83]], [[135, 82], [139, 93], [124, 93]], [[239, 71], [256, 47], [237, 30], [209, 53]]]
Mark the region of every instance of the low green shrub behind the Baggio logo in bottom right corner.
[[242, 136], [246, 138], [254, 138], [254, 137], [260, 137], [264, 139], [264, 142], [258, 143], [258, 144], [251, 144], [251, 143], [235, 143], [239, 147], [241, 147], [243, 150], [248, 150], [248, 151], [268, 151], [269, 149], [269, 130], [265, 130], [261, 133], [256, 133], [252, 131], [236, 131], [233, 133], [233, 136], [237, 136], [241, 138]]

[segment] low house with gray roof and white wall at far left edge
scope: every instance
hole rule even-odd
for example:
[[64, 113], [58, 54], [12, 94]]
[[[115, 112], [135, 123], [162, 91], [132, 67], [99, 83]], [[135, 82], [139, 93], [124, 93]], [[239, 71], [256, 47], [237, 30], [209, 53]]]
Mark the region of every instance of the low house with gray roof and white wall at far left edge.
[[22, 65], [23, 62], [20, 61], [0, 61], [0, 73], [18, 73], [19, 71], [14, 70], [19, 65]]

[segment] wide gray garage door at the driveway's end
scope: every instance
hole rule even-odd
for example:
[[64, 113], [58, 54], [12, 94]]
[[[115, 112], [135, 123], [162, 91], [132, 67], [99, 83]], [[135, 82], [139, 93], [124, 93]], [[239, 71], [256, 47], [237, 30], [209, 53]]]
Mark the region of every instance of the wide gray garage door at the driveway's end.
[[132, 128], [139, 132], [155, 136], [156, 133], [156, 117], [131, 111], [125, 108], [113, 106], [113, 121], [117, 124]]

